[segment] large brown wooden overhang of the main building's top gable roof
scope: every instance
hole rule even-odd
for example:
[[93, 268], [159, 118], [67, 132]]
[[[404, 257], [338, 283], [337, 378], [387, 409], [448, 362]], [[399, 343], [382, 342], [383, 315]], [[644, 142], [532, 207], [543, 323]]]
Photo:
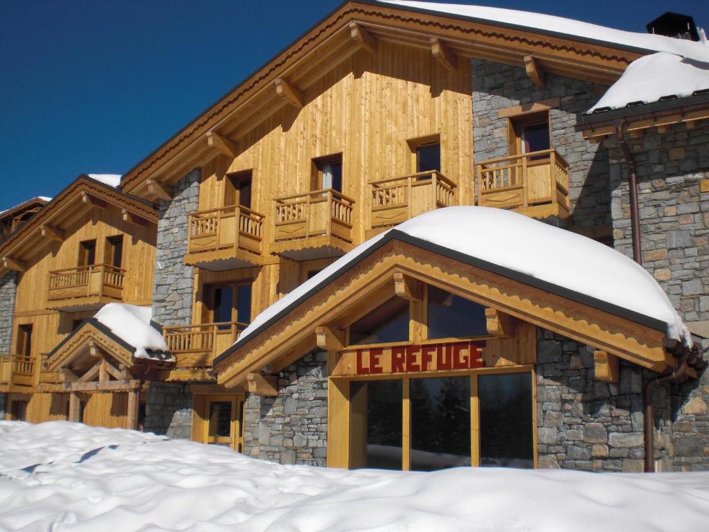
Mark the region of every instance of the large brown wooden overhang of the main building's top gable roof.
[[450, 13], [347, 1], [126, 172], [121, 187], [152, 197], [148, 179], [172, 183], [220, 153], [233, 153], [230, 136], [250, 131], [287, 105], [279, 96], [284, 81], [290, 94], [303, 94], [348, 57], [372, 50], [371, 43], [378, 40], [426, 50], [443, 43], [454, 56], [520, 67], [532, 58], [546, 72], [603, 84], [614, 82], [630, 62], [652, 52]]

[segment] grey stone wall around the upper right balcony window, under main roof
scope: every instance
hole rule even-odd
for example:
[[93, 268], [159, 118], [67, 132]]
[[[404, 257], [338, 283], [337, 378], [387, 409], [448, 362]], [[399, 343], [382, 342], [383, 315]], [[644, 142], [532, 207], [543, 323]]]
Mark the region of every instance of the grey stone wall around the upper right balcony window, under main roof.
[[540, 88], [523, 67], [473, 59], [472, 68], [475, 162], [509, 155], [508, 118], [498, 118], [499, 109], [558, 97], [560, 106], [551, 109], [549, 120], [551, 147], [569, 163], [572, 216], [567, 224], [610, 225], [608, 150], [575, 131], [577, 115], [595, 104], [605, 87], [547, 73]]

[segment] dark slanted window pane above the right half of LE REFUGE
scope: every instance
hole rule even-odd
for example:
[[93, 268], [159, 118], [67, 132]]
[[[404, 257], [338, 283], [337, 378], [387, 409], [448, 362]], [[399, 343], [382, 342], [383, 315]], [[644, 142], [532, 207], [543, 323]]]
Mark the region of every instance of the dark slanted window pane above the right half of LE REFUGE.
[[487, 334], [485, 307], [428, 287], [428, 338], [465, 338]]

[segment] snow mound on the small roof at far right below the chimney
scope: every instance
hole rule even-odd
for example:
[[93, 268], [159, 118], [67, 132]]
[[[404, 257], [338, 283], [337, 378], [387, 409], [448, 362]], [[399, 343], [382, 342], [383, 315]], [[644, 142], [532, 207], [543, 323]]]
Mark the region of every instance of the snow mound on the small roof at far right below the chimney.
[[658, 52], [630, 63], [620, 79], [587, 112], [652, 104], [705, 90], [709, 90], [709, 62]]

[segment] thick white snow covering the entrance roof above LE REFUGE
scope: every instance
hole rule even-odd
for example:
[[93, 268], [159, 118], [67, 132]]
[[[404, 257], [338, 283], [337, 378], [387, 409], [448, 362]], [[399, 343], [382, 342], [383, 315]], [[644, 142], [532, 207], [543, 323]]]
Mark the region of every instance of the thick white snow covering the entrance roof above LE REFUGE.
[[[620, 309], [666, 323], [669, 338], [691, 336], [657, 281], [637, 262], [606, 245], [504, 209], [455, 206], [436, 209], [396, 230], [469, 257], [540, 279]], [[324, 286], [330, 276], [374, 248], [389, 231], [354, 248], [269, 306], [241, 333], [242, 344], [272, 318]]]

